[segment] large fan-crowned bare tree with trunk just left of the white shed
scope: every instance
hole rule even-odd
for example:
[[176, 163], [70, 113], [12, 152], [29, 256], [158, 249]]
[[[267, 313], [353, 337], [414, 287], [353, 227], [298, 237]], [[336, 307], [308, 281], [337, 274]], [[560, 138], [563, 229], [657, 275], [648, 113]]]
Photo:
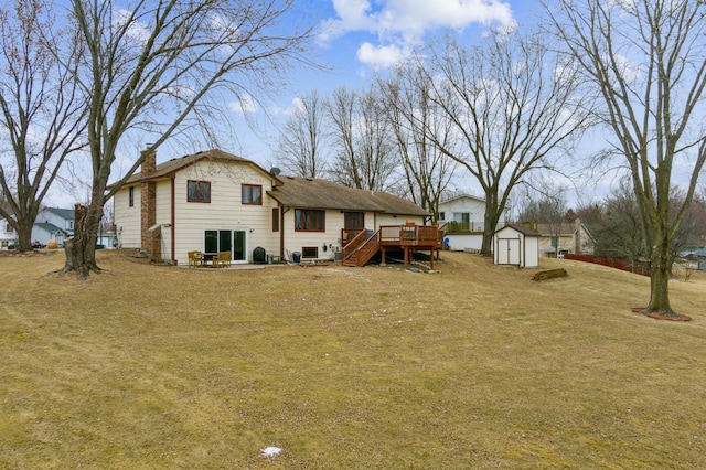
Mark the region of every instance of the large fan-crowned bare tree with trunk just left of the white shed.
[[[419, 66], [425, 66], [419, 62]], [[539, 34], [494, 31], [467, 50], [450, 36], [432, 52], [431, 97], [453, 125], [456, 138], [435, 145], [481, 185], [485, 221], [481, 253], [513, 189], [533, 170], [553, 168], [589, 125], [590, 100], [576, 71]]]

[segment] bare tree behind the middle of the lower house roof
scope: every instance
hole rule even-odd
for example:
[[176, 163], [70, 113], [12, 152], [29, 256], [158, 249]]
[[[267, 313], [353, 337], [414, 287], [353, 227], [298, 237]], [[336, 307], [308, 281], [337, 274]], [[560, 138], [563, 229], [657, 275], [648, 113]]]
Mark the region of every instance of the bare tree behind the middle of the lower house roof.
[[373, 88], [362, 94], [338, 88], [328, 105], [335, 153], [331, 172], [351, 188], [385, 191], [397, 161], [381, 97]]

